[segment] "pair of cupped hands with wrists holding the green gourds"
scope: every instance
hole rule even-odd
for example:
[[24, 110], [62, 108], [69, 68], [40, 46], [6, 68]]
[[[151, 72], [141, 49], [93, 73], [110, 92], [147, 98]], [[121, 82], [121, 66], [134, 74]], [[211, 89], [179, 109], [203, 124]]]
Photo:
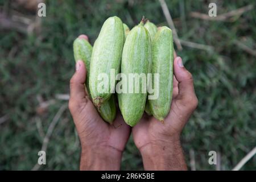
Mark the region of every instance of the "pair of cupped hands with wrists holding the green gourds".
[[[87, 36], [80, 38], [88, 40]], [[159, 122], [146, 114], [131, 128], [120, 112], [113, 125], [104, 122], [85, 92], [86, 68], [79, 60], [70, 81], [69, 110], [81, 142], [80, 169], [118, 170], [130, 134], [141, 152], [144, 169], [187, 169], [180, 145], [180, 133], [197, 106], [191, 73], [180, 57], [174, 59], [174, 90], [170, 113]], [[119, 127], [114, 127], [119, 126]]]

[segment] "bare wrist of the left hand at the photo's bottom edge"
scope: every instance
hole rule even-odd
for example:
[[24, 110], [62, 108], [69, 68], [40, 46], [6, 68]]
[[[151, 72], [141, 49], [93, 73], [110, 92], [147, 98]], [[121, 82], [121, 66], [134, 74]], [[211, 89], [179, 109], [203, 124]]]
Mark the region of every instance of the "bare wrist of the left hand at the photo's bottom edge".
[[80, 170], [116, 171], [120, 169], [122, 152], [109, 146], [82, 147]]

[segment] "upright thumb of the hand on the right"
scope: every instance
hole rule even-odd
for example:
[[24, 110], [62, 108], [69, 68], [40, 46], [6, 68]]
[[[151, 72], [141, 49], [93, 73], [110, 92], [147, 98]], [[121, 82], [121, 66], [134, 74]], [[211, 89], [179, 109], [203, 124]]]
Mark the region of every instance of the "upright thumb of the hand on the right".
[[176, 57], [174, 60], [174, 75], [178, 81], [179, 94], [177, 99], [189, 104], [193, 104], [190, 102], [197, 102], [192, 75], [185, 69], [181, 57]]

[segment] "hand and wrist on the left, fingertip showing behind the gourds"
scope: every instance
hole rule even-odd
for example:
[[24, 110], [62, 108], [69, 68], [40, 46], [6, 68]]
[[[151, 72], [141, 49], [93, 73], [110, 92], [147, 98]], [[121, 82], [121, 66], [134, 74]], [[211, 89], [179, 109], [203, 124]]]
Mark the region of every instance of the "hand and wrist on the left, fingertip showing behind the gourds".
[[[82, 35], [80, 38], [86, 38]], [[130, 127], [118, 113], [113, 125], [104, 122], [85, 92], [86, 69], [79, 60], [70, 80], [69, 110], [81, 142], [80, 169], [118, 170]], [[115, 128], [114, 126], [119, 126]]]

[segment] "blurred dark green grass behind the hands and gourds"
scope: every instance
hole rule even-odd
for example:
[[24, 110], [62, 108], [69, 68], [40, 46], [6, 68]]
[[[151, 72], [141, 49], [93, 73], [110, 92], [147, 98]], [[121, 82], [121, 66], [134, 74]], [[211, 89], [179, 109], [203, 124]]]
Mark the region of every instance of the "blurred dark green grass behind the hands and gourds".
[[[0, 0], [1, 13], [10, 7], [24, 15], [35, 12]], [[193, 18], [192, 11], [208, 14], [210, 2], [217, 15], [255, 1], [167, 1], [179, 38], [205, 44], [213, 51], [183, 46], [177, 54], [192, 73], [199, 106], [182, 133], [189, 168], [215, 170], [208, 152], [217, 151], [221, 170], [230, 170], [256, 144], [256, 11], [226, 21]], [[9, 11], [7, 13], [10, 13]], [[159, 1], [46, 1], [40, 32], [17, 28], [0, 30], [0, 170], [32, 169], [43, 137], [69, 93], [75, 61], [72, 43], [86, 34], [93, 44], [102, 23], [117, 15], [130, 28], [142, 15], [158, 26], [167, 25]], [[1, 27], [1, 24], [0, 24]], [[61, 113], [49, 139], [47, 165], [40, 169], [79, 169], [80, 144], [68, 109]], [[195, 160], [195, 164], [193, 164]], [[191, 166], [192, 162], [192, 166]], [[132, 139], [123, 153], [122, 169], [143, 169]], [[242, 169], [256, 169], [254, 156]]]

